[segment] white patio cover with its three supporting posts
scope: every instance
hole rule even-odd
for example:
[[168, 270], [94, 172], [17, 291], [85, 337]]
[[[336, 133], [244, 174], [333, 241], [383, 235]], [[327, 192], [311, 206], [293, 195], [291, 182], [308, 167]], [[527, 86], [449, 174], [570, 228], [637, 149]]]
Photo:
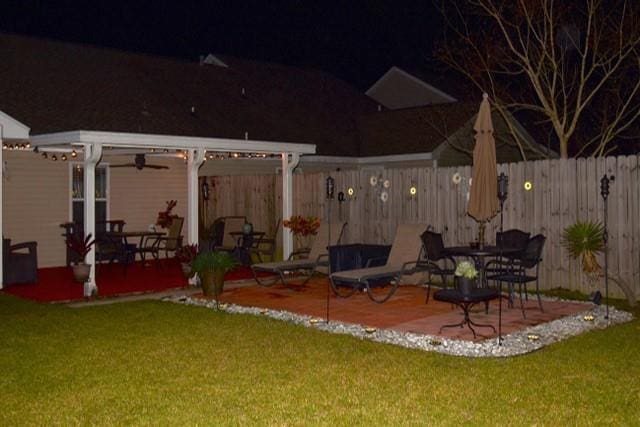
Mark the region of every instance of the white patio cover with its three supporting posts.
[[[112, 154], [118, 154], [118, 150], [128, 150], [130, 153], [132, 149], [185, 151], [187, 153], [187, 216], [189, 218], [187, 239], [189, 243], [198, 242], [198, 169], [204, 161], [206, 151], [279, 154], [282, 159], [283, 177], [282, 215], [288, 218], [292, 214], [293, 206], [293, 169], [298, 164], [300, 155], [315, 154], [316, 150], [313, 144], [84, 130], [33, 136], [31, 144], [40, 151], [84, 152], [84, 232], [93, 235], [95, 235], [95, 168], [102, 157], [103, 148], [111, 148]], [[2, 160], [1, 157], [0, 160]], [[0, 217], [0, 226], [1, 224]], [[293, 248], [290, 230], [284, 230], [282, 239], [284, 256], [288, 257]], [[92, 250], [87, 255], [87, 262], [92, 265], [92, 269], [89, 282], [85, 284], [85, 295], [91, 295], [96, 287], [95, 251]]]

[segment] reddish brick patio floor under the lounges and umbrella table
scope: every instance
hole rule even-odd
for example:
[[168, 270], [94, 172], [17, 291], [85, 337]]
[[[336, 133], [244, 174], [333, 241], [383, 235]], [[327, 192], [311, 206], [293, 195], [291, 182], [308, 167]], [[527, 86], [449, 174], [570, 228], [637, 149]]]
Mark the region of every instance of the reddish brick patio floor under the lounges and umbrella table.
[[[433, 290], [432, 290], [433, 292]], [[402, 332], [415, 332], [428, 335], [440, 335], [449, 338], [473, 340], [473, 334], [464, 328], [445, 328], [439, 333], [440, 326], [457, 323], [462, 320], [462, 310], [449, 303], [429, 299], [425, 304], [426, 289], [419, 286], [401, 286], [395, 295], [383, 304], [372, 302], [366, 293], [356, 293], [349, 298], [339, 298], [331, 294], [329, 299], [329, 318], [363, 326], [392, 329]], [[259, 285], [225, 289], [220, 301], [242, 306], [286, 310], [293, 313], [325, 318], [327, 301], [327, 280], [314, 279], [305, 286], [296, 289], [282, 285], [263, 287]], [[522, 316], [516, 298], [514, 308], [502, 303], [502, 333], [508, 334], [577, 314], [592, 307], [590, 303], [543, 300], [544, 312], [540, 311], [537, 299], [530, 298], [525, 303], [526, 318]], [[498, 329], [498, 302], [492, 301], [489, 313], [485, 314], [484, 304], [471, 311], [471, 319], [477, 323], [488, 323]], [[495, 337], [491, 328], [476, 328], [476, 340]]]

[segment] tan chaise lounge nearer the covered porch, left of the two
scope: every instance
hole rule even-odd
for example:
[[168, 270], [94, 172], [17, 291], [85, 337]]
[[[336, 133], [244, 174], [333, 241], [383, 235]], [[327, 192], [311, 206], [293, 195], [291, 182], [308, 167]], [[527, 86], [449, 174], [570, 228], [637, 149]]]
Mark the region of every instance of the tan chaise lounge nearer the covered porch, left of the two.
[[[321, 223], [318, 228], [318, 233], [313, 239], [311, 249], [307, 258], [305, 259], [292, 259], [290, 257], [287, 261], [281, 262], [266, 262], [260, 264], [254, 264], [251, 266], [253, 277], [256, 282], [262, 286], [271, 286], [278, 283], [278, 280], [263, 279], [260, 280], [256, 273], [267, 272], [277, 274], [280, 281], [285, 286], [289, 286], [285, 280], [285, 273], [288, 271], [302, 271], [309, 270], [311, 273], [307, 276], [302, 285], [306, 284], [315, 273], [329, 274], [329, 254], [327, 248], [331, 245], [335, 245], [342, 239], [344, 227], [346, 222], [338, 222], [331, 224], [331, 242], [329, 242], [329, 224]], [[292, 254], [292, 256], [295, 254]]]

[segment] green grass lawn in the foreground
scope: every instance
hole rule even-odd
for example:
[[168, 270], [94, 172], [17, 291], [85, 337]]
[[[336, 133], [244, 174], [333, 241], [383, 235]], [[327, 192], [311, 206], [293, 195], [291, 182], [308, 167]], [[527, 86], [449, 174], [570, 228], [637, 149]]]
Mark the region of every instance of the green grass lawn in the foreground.
[[0, 426], [640, 424], [637, 320], [481, 360], [162, 302], [0, 324]]

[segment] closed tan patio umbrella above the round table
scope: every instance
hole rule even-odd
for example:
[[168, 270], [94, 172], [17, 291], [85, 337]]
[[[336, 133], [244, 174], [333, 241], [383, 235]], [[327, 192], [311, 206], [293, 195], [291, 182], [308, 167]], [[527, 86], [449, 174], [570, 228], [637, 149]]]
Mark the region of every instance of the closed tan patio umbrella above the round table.
[[473, 149], [473, 181], [467, 206], [467, 213], [480, 223], [481, 244], [484, 243], [485, 223], [498, 213], [498, 173], [491, 106], [486, 93], [482, 98], [473, 126], [476, 144]]

